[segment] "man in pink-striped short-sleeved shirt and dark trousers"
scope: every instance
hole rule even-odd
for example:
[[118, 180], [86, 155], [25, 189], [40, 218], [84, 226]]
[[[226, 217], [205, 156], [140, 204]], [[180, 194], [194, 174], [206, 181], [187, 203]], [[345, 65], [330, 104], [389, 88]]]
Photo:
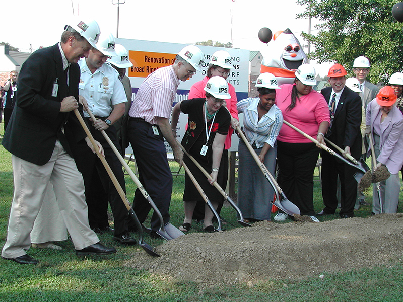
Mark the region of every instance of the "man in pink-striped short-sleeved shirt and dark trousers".
[[[129, 110], [128, 137], [138, 165], [140, 182], [153, 199], [164, 219], [169, 223], [169, 205], [172, 193], [172, 174], [168, 165], [164, 138], [172, 147], [175, 160], [181, 164], [183, 152], [176, 143], [169, 123], [172, 104], [179, 81], [186, 81], [201, 71], [204, 55], [194, 45], [184, 47], [173, 65], [149, 74], [140, 86]], [[133, 201], [140, 222], [144, 222], [151, 207], [137, 189]], [[159, 219], [151, 219], [151, 236], [159, 237]], [[168, 232], [168, 231], [167, 231]]]

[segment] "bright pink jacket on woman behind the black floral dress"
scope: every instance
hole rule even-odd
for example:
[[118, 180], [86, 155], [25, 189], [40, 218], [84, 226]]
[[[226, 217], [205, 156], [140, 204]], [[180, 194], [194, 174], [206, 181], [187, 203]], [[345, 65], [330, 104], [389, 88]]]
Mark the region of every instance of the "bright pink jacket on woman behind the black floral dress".
[[[203, 80], [193, 84], [193, 86], [190, 88], [189, 100], [195, 99], [195, 98], [203, 98], [203, 99], [206, 98], [205, 87], [206, 87], [207, 81], [209, 81], [209, 79], [210, 78], [208, 78], [206, 76]], [[226, 100], [227, 108], [229, 109], [231, 116], [233, 118], [235, 118], [236, 120], [239, 120], [238, 110], [236, 109], [237, 99], [236, 99], [235, 88], [232, 84], [228, 83], [228, 89], [229, 89], [229, 94], [231, 96], [231, 99]], [[225, 149], [229, 149], [231, 147], [231, 135], [233, 132], [234, 132], [234, 130], [230, 127], [228, 130], [228, 135], [225, 138], [225, 142], [224, 142]]]

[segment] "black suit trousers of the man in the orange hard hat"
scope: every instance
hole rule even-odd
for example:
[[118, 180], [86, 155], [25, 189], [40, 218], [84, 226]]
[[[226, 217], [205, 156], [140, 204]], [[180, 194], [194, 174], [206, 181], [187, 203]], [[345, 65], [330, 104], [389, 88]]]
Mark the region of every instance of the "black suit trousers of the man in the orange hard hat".
[[354, 174], [357, 169], [339, 161], [334, 156], [325, 151], [321, 152], [322, 156], [322, 197], [325, 205], [326, 213], [334, 213], [337, 209], [338, 200], [337, 178], [340, 178], [341, 184], [341, 210], [340, 216], [354, 216], [354, 206], [357, 199], [357, 181]]

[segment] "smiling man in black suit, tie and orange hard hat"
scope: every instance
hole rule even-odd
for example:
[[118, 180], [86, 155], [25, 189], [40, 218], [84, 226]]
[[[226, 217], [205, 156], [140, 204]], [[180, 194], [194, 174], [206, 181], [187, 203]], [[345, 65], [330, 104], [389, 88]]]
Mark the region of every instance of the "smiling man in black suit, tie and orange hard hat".
[[[360, 132], [361, 98], [345, 86], [346, 75], [347, 72], [342, 65], [332, 65], [328, 73], [331, 87], [321, 91], [329, 104], [330, 111], [330, 126], [325, 136], [344, 149], [343, 156], [350, 154], [354, 158], [359, 158], [362, 147]], [[340, 217], [353, 217], [357, 197], [357, 182], [354, 179], [356, 169], [324, 150], [321, 152], [321, 157], [322, 196], [325, 208], [317, 215], [334, 214], [338, 205], [336, 191], [339, 176], [342, 189]]]

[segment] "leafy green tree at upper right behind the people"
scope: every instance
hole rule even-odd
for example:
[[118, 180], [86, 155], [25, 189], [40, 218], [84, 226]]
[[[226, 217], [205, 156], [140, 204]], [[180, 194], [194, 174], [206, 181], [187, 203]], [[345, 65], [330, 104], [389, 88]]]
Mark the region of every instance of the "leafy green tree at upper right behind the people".
[[306, 6], [298, 18], [318, 18], [316, 35], [303, 33], [315, 46], [310, 58], [337, 61], [352, 70], [356, 57], [371, 62], [373, 83], [387, 83], [390, 75], [403, 69], [401, 23], [392, 17], [396, 0], [297, 0]]

